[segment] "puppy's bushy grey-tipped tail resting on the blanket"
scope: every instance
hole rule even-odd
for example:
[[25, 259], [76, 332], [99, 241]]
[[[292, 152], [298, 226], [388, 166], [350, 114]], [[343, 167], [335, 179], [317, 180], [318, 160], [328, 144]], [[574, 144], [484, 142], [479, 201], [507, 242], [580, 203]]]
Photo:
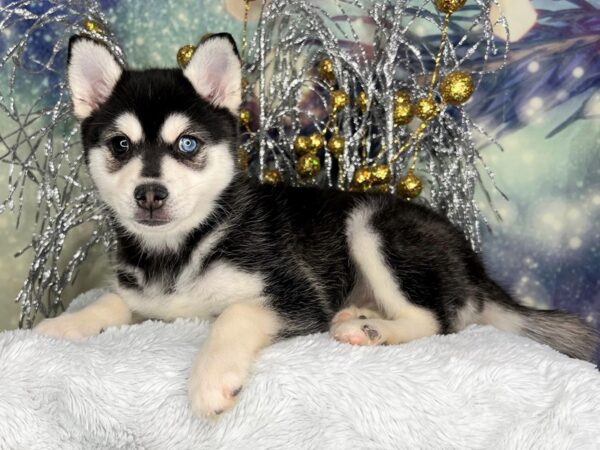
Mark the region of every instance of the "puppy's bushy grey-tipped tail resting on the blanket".
[[599, 341], [592, 326], [564, 311], [520, 305], [499, 286], [494, 288], [494, 301], [484, 303], [480, 323], [527, 336], [572, 358], [592, 361]]

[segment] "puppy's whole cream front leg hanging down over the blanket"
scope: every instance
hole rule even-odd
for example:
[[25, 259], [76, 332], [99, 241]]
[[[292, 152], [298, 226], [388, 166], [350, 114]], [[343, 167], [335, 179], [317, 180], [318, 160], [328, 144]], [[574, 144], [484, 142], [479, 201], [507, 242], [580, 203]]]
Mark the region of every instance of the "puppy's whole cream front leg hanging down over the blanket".
[[214, 416], [231, 408], [256, 354], [280, 329], [279, 317], [265, 306], [236, 303], [223, 311], [192, 369], [189, 393], [194, 413]]

